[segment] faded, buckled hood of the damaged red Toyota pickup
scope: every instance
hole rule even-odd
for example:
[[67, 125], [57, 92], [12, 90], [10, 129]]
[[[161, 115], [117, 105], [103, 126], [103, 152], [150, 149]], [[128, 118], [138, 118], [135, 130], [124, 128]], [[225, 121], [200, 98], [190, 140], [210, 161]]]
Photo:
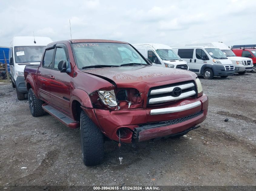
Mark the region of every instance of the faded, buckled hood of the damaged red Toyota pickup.
[[115, 84], [117, 84], [117, 87], [137, 87], [137, 89], [140, 84], [145, 88], [147, 84], [154, 82], [174, 80], [179, 78], [194, 79], [196, 77], [193, 72], [187, 70], [156, 66], [95, 68], [82, 70], [82, 72], [86, 72], [106, 80], [110, 79], [111, 81], [114, 81]]

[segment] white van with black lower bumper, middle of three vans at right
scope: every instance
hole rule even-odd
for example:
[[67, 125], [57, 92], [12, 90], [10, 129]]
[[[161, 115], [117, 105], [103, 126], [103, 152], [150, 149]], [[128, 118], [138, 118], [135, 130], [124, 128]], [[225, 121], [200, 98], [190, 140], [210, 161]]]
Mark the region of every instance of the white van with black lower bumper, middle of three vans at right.
[[234, 75], [234, 65], [231, 60], [218, 48], [211, 46], [180, 46], [172, 47], [176, 53], [188, 63], [189, 70], [204, 79], [213, 76], [226, 78]]

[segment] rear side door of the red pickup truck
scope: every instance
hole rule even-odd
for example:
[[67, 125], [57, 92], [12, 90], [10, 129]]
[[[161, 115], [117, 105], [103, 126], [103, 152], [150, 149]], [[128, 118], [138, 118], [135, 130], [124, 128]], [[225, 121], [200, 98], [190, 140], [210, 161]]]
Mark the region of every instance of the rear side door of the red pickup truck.
[[37, 71], [37, 83], [40, 97], [46, 103], [51, 101], [49, 78], [53, 63], [54, 47], [45, 50], [41, 67]]

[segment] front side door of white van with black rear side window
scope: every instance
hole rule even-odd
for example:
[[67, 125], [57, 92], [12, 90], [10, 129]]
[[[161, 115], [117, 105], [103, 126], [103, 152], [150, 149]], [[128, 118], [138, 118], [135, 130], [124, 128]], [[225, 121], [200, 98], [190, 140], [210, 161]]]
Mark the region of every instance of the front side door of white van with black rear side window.
[[208, 60], [203, 60], [203, 56], [209, 60], [207, 54], [204, 52], [203, 49], [201, 48], [197, 48], [197, 49], [194, 49], [194, 64], [193, 64], [193, 72], [195, 72], [196, 74], [200, 74], [201, 73], [201, 70], [202, 70], [202, 66], [204, 64], [207, 64], [209, 63]]

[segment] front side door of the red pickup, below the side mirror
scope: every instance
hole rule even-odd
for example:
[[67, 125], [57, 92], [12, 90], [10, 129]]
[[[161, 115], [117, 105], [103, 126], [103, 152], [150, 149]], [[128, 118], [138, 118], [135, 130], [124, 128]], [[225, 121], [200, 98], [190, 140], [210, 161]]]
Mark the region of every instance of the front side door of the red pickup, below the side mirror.
[[71, 76], [66, 72], [60, 72], [58, 69], [60, 61], [66, 61], [68, 66], [68, 51], [65, 44], [56, 45], [53, 60], [53, 68], [49, 79], [52, 105], [60, 112], [70, 116]]

